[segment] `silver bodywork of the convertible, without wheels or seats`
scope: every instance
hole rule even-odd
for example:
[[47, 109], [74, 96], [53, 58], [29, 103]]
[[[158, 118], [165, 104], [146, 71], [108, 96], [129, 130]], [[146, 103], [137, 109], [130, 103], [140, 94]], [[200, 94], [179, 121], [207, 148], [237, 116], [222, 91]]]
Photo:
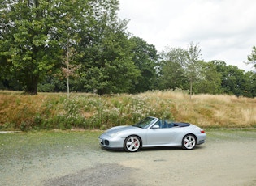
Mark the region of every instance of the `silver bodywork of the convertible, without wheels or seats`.
[[[188, 123], [169, 123], [169, 127], [163, 127], [163, 121], [156, 117], [147, 117], [144, 125], [116, 126], [106, 130], [99, 137], [100, 145], [110, 149], [123, 149], [124, 141], [129, 136], [141, 138], [143, 147], [154, 146], [182, 146], [184, 136], [193, 134], [197, 138], [197, 145], [206, 140], [206, 133], [196, 125]], [[144, 121], [145, 122], [145, 121]], [[162, 125], [161, 125], [162, 122]], [[171, 125], [171, 126], [170, 126]], [[144, 127], [144, 128], [143, 128]]]

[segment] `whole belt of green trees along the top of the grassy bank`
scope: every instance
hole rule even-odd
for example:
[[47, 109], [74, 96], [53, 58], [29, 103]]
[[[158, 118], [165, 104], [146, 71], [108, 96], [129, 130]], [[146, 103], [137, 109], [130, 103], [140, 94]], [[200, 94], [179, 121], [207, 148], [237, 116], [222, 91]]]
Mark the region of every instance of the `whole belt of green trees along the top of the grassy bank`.
[[[168, 48], [130, 36], [118, 0], [1, 0], [0, 89], [256, 96], [256, 74], [204, 61], [197, 44]], [[255, 65], [256, 48], [248, 56]]]

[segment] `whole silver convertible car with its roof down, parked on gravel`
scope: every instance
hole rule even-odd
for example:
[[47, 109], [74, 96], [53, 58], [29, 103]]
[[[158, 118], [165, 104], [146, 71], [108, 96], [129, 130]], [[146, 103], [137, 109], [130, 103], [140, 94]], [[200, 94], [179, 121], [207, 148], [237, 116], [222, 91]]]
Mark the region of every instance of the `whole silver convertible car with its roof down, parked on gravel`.
[[189, 123], [146, 117], [136, 125], [108, 129], [98, 139], [103, 147], [124, 149], [128, 152], [154, 146], [181, 146], [183, 149], [192, 150], [206, 141], [206, 133]]

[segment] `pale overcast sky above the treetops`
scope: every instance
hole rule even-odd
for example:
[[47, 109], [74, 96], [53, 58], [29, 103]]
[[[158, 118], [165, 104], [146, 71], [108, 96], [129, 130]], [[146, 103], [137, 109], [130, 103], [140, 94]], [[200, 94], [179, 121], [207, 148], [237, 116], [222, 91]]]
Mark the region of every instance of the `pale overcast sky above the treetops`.
[[158, 52], [198, 44], [204, 61], [222, 60], [243, 70], [256, 45], [255, 0], [119, 0], [128, 32]]

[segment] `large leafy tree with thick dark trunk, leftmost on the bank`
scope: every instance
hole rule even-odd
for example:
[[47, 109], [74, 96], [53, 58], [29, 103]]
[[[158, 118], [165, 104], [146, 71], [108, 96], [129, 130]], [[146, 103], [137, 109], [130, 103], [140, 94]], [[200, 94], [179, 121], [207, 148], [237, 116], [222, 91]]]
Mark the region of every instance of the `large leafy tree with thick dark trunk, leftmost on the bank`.
[[16, 74], [28, 94], [37, 94], [40, 74], [59, 59], [50, 45], [50, 27], [54, 24], [51, 2], [4, 0], [0, 4], [1, 53], [10, 73]]

